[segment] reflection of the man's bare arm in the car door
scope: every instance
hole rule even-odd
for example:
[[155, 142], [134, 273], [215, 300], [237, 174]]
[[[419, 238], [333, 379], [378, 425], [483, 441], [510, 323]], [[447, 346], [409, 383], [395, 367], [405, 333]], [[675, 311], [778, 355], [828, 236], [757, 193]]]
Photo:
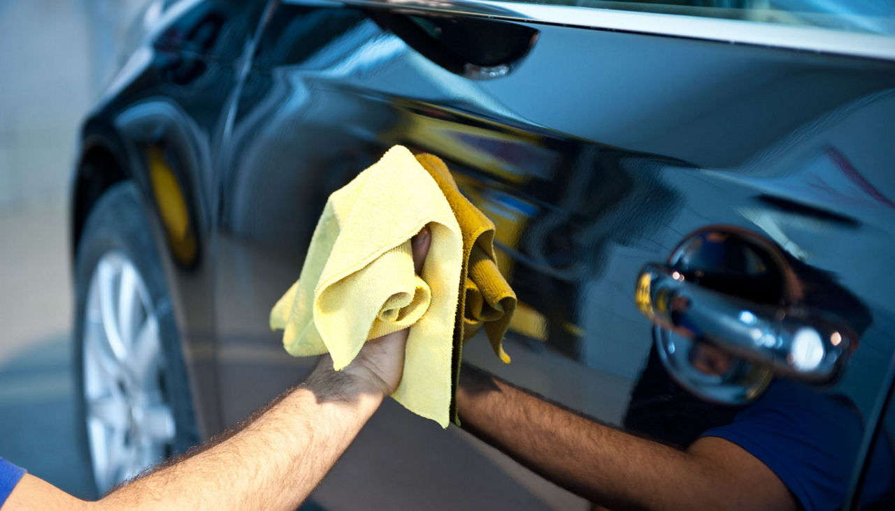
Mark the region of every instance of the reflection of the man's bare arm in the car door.
[[[461, 371], [457, 407], [466, 430], [601, 506], [697, 509], [791, 504], [785, 488], [782, 498], [780, 489], [771, 494], [772, 485], [764, 483], [770, 471], [729, 442], [703, 439], [706, 442], [695, 451], [680, 451], [575, 415], [467, 364]], [[717, 453], [724, 454], [713, 456]], [[753, 484], [768, 489], [757, 496], [767, 499], [756, 501], [748, 494]]]

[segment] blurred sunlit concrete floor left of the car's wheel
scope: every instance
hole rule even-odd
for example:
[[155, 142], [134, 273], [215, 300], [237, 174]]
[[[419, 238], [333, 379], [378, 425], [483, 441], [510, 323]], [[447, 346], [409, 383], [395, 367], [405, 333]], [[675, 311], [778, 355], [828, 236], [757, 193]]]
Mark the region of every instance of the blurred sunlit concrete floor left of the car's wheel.
[[0, 214], [0, 457], [90, 498], [74, 427], [65, 220], [54, 203]]

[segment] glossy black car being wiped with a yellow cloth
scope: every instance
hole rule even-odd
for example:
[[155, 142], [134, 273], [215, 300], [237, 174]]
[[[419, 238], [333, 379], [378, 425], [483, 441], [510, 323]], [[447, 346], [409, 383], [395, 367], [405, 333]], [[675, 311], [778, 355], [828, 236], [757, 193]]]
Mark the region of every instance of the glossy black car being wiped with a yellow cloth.
[[[513, 361], [467, 363], [678, 448], [797, 389], [778, 411], [839, 433], [759, 448], [807, 446], [823, 501], [749, 452], [797, 505], [892, 506], [893, 33], [890, 1], [166, 2], [72, 179], [98, 489], [302, 378], [270, 308], [328, 195], [400, 144], [497, 224]], [[390, 400], [312, 498], [587, 506]]]

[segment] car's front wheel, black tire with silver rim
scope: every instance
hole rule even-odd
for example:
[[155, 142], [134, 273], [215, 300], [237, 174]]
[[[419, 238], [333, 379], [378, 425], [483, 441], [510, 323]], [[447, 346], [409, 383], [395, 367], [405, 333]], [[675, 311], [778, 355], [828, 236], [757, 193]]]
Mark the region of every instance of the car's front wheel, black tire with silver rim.
[[90, 211], [74, 276], [77, 424], [103, 494], [198, 440], [171, 300], [131, 181]]

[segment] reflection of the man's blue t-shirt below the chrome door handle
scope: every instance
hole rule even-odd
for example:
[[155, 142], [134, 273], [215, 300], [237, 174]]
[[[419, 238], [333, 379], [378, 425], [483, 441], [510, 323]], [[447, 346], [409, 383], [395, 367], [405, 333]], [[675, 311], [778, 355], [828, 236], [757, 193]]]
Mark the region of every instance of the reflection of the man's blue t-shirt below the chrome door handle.
[[[761, 398], [732, 423], [705, 431], [746, 449], [777, 474], [805, 509], [838, 509], [848, 492], [864, 423], [850, 403], [794, 381], [771, 382]], [[862, 503], [879, 498], [889, 486], [889, 442], [878, 441], [867, 473]]]

